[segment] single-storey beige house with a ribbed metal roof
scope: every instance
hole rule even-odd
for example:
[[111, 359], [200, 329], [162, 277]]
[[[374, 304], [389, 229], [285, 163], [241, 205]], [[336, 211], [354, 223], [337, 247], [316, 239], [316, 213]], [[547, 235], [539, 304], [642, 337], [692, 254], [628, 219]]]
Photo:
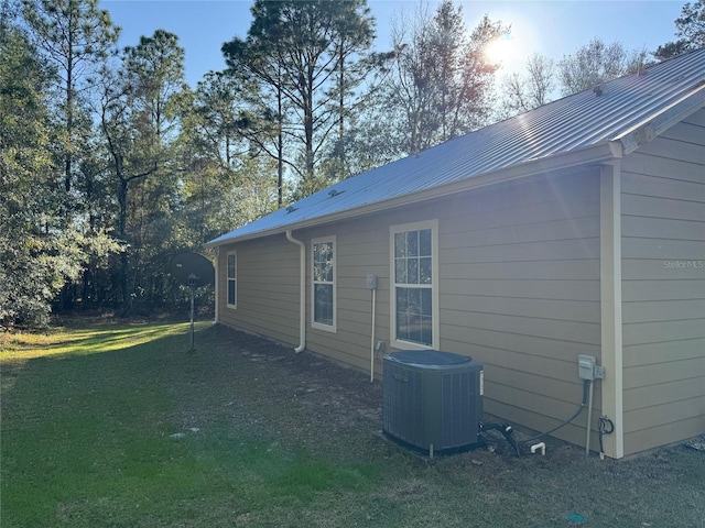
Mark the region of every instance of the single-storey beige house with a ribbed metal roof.
[[[209, 242], [217, 321], [379, 375], [485, 364], [485, 410], [581, 404], [621, 458], [705, 433], [705, 48], [340, 182]], [[379, 344], [381, 343], [381, 344]], [[384, 349], [382, 351], [382, 349]], [[587, 441], [585, 414], [555, 432]]]

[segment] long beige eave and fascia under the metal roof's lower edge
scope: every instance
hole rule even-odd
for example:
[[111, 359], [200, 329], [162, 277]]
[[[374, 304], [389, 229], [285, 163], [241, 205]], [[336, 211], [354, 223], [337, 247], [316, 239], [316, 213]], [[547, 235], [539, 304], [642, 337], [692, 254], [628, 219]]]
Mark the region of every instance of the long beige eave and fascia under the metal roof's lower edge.
[[539, 160], [530, 160], [518, 165], [512, 165], [510, 167], [503, 167], [484, 174], [474, 175], [459, 182], [440, 185], [431, 189], [421, 190], [389, 200], [378, 201], [375, 204], [369, 204], [367, 206], [356, 207], [354, 209], [338, 211], [332, 215], [302, 220], [300, 222], [293, 222], [285, 226], [278, 226], [272, 229], [257, 231], [241, 237], [215, 239], [212, 242], [208, 242], [206, 244], [206, 248], [216, 248], [225, 244], [232, 244], [235, 242], [245, 242], [248, 240], [282, 234], [290, 230], [301, 230], [321, 226], [324, 223], [348, 220], [351, 218], [370, 215], [373, 212], [380, 212], [395, 207], [409, 206], [432, 198], [441, 198], [463, 190], [486, 187], [488, 185], [495, 185], [502, 182], [511, 182], [514, 179], [535, 176], [542, 173], [562, 170], [578, 165], [607, 163], [617, 158], [621, 158], [622, 153], [623, 147], [621, 142], [606, 141], [587, 147], [555, 154]]

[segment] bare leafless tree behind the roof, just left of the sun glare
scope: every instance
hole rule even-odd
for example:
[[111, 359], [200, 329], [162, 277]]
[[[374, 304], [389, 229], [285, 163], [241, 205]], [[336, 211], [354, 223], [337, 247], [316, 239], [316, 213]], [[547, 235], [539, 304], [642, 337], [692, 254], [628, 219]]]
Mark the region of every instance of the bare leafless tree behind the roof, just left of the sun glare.
[[484, 16], [468, 30], [460, 8], [445, 0], [432, 18], [424, 4], [415, 20], [392, 28], [394, 61], [387, 85], [387, 110], [415, 153], [482, 125], [491, 110], [498, 65], [485, 47], [509, 31]]

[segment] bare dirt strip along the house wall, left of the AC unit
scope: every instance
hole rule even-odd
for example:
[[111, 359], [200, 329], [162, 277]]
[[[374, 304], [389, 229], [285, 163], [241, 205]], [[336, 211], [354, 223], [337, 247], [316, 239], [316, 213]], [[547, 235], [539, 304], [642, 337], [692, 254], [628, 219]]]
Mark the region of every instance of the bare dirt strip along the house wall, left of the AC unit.
[[[224, 382], [208, 387], [207, 380], [197, 382], [203, 392], [191, 402], [202, 402], [204, 413], [225, 408], [236, 425], [313, 450], [335, 443], [339, 432], [370, 436], [381, 429], [381, 383], [370, 383], [362, 372], [221, 326], [206, 330], [198, 340], [204, 346], [196, 346], [192, 362], [214, 362], [210, 375]], [[219, 349], [218, 353], [205, 352], [209, 348]], [[216, 386], [230, 386], [231, 393], [213, 396], [210, 388]], [[187, 425], [198, 427], [193, 421]]]

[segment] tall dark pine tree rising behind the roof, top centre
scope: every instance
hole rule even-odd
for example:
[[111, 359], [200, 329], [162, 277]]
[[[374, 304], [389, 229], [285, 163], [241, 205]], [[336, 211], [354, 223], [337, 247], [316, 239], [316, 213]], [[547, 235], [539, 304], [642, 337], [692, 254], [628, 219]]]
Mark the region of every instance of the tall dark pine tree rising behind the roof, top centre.
[[[300, 177], [296, 196], [329, 180], [316, 168], [325, 146], [345, 134], [355, 88], [373, 66], [365, 54], [373, 38], [373, 19], [362, 0], [257, 0], [247, 40], [223, 46], [231, 69], [247, 69], [267, 94], [280, 166]], [[367, 66], [367, 70], [365, 69]], [[273, 134], [272, 134], [273, 130]], [[284, 135], [291, 138], [289, 147]]]

